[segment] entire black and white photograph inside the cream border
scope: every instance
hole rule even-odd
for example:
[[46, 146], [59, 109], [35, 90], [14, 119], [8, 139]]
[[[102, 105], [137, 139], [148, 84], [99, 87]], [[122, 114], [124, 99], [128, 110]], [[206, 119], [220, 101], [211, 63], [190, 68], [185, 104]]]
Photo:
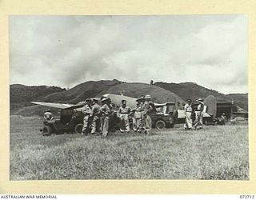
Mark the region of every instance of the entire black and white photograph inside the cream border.
[[10, 15], [9, 55], [11, 181], [250, 180], [246, 14]]

